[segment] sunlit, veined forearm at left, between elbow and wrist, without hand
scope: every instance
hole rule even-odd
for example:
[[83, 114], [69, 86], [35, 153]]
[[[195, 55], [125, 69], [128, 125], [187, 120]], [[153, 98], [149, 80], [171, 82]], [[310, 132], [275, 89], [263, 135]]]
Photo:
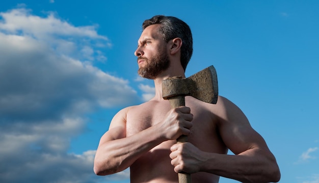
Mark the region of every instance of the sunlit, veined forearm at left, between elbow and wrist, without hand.
[[135, 135], [105, 142], [97, 149], [94, 172], [109, 175], [128, 168], [141, 155], [166, 141], [154, 126]]

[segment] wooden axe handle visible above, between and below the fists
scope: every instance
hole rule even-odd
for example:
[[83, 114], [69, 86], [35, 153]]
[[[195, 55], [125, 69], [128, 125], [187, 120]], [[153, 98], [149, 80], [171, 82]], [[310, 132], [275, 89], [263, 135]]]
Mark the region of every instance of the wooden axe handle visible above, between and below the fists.
[[[177, 96], [172, 96], [169, 97], [168, 100], [171, 103], [172, 108], [177, 108], [180, 106], [185, 106], [185, 96], [183, 95], [177, 95]], [[183, 142], [188, 142], [188, 137], [187, 136], [180, 136], [177, 138], [177, 143], [183, 143]], [[179, 172], [178, 173], [178, 182], [179, 183], [191, 183], [191, 174], [185, 173], [185, 172]]]

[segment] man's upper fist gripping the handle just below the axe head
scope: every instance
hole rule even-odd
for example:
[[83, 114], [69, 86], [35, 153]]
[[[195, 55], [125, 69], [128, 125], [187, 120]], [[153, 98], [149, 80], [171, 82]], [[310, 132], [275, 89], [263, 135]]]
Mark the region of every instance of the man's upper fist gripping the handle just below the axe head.
[[190, 135], [191, 127], [193, 123], [193, 114], [191, 109], [185, 106], [181, 106], [170, 110], [164, 121], [159, 123], [159, 130], [163, 132], [163, 136], [167, 140], [175, 140], [181, 135]]

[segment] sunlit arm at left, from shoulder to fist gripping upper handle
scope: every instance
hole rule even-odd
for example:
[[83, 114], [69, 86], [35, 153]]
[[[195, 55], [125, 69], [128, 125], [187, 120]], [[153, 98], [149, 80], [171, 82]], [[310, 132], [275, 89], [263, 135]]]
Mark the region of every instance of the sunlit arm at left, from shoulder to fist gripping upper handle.
[[192, 127], [190, 109], [184, 107], [171, 110], [162, 122], [127, 137], [128, 110], [123, 109], [114, 116], [109, 131], [100, 139], [94, 159], [94, 172], [97, 175], [109, 175], [128, 168], [158, 144], [176, 139], [181, 134], [188, 135]]

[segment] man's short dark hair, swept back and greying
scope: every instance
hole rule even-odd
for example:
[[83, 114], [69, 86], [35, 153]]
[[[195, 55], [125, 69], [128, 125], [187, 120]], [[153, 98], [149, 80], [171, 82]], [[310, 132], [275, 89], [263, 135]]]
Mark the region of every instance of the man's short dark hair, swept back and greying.
[[193, 37], [189, 25], [173, 16], [156, 15], [143, 22], [143, 30], [153, 24], [161, 25], [157, 31], [164, 36], [166, 42], [174, 38], [182, 40], [180, 63], [185, 71], [193, 54]]

